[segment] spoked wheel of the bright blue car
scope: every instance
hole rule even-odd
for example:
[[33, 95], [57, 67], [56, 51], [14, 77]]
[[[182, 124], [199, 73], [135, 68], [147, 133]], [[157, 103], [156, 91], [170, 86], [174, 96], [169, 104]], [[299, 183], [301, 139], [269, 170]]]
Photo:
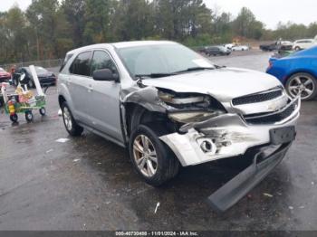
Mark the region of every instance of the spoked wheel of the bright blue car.
[[292, 98], [295, 98], [299, 91], [303, 90], [302, 100], [308, 101], [314, 99], [317, 95], [317, 80], [309, 73], [300, 72], [286, 81], [285, 88]]

